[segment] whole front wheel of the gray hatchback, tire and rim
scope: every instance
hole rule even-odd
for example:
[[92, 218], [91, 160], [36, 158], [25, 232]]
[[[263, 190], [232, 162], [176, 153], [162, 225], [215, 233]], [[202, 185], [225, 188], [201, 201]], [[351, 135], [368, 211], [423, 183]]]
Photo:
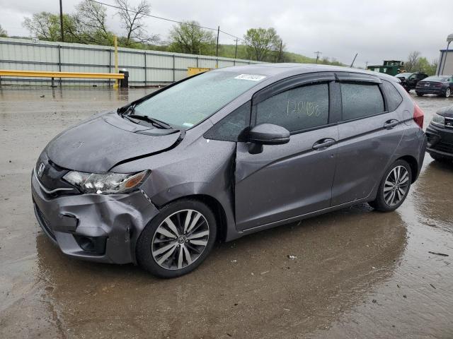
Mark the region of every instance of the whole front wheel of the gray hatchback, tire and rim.
[[212, 210], [197, 200], [162, 208], [137, 241], [139, 266], [160, 278], [190, 273], [205, 260], [217, 236]]

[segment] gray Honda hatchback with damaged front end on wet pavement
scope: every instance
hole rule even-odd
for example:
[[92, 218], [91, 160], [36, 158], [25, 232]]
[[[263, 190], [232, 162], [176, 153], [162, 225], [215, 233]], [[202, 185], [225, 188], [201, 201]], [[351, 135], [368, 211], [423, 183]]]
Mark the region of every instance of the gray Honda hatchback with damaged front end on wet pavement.
[[384, 74], [216, 69], [63, 131], [31, 188], [67, 255], [194, 270], [216, 240], [357, 203], [398, 208], [425, 155], [423, 112]]

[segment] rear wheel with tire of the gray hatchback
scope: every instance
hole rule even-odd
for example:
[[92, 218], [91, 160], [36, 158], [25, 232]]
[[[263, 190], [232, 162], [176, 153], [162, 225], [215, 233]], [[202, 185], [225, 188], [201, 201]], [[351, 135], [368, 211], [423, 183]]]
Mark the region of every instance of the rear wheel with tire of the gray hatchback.
[[369, 205], [382, 212], [396, 210], [406, 200], [411, 182], [411, 166], [404, 160], [396, 160], [386, 170], [379, 184], [376, 199]]

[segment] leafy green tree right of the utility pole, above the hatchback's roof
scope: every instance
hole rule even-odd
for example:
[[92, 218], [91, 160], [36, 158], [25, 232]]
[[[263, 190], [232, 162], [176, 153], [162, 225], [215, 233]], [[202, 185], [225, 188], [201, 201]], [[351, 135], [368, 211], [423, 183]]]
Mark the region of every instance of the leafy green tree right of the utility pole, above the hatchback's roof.
[[251, 28], [243, 37], [248, 57], [258, 61], [266, 61], [271, 52], [279, 51], [282, 42], [274, 28]]

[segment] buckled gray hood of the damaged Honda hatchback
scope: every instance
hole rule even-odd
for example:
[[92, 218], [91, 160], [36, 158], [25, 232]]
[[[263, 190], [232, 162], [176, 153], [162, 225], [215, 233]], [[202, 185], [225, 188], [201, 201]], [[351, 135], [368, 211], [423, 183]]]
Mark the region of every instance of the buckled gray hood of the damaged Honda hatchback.
[[50, 141], [46, 152], [60, 167], [103, 173], [118, 163], [173, 148], [179, 140], [177, 130], [151, 129], [110, 112], [63, 131]]

